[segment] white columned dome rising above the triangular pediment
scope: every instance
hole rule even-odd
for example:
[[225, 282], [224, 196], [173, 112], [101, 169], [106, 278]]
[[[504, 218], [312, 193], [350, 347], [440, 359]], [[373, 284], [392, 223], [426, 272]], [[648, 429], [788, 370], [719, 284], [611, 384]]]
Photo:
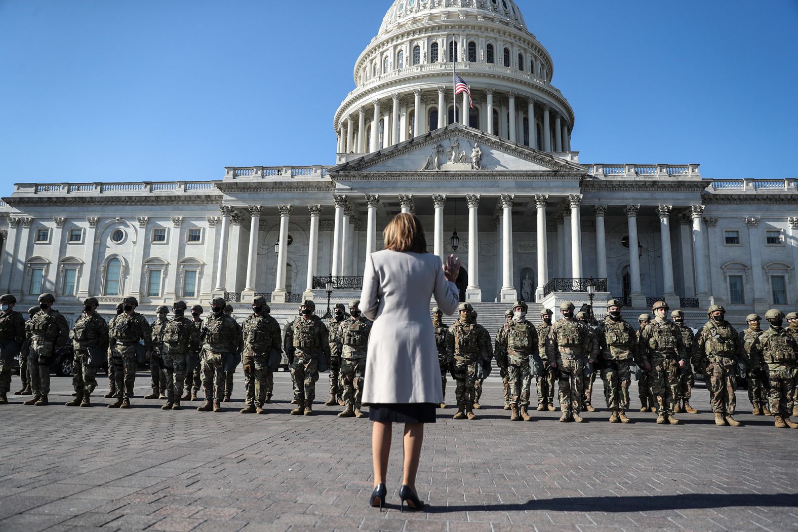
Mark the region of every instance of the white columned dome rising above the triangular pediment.
[[[470, 102], [454, 97], [455, 69]], [[355, 88], [335, 113], [338, 159], [454, 122], [569, 152], [575, 116], [551, 84], [553, 74], [551, 55], [513, 0], [393, 0], [355, 62]]]

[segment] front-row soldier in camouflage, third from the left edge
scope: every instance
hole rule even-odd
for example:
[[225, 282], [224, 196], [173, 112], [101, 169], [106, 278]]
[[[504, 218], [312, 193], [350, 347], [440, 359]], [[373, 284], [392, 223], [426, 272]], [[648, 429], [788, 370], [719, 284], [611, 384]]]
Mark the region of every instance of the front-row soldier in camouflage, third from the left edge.
[[97, 314], [100, 302], [89, 297], [83, 302], [83, 313], [75, 320], [69, 338], [72, 339], [74, 359], [72, 385], [75, 399], [67, 407], [90, 407], [89, 397], [97, 387], [97, 366], [105, 362], [108, 352], [108, 324]]

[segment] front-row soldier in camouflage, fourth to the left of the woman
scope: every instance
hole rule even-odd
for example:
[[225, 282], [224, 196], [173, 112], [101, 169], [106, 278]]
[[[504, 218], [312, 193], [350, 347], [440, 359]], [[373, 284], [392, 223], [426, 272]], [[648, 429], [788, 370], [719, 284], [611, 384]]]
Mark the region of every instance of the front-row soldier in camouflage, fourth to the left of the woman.
[[241, 343], [241, 329], [231, 316], [224, 312], [223, 297], [211, 301], [211, 315], [203, 320], [199, 339], [202, 342], [202, 373], [205, 389], [205, 403], [198, 407], [200, 412], [220, 412], [224, 397], [227, 375], [224, 367], [231, 367], [235, 361], [235, 351]]

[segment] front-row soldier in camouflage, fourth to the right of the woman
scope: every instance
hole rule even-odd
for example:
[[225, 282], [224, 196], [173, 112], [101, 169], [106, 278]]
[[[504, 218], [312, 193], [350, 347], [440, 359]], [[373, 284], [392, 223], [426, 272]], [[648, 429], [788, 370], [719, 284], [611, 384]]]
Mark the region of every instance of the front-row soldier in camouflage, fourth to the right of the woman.
[[629, 385], [632, 382], [630, 363], [642, 365], [638, 355], [638, 339], [632, 326], [621, 317], [619, 300], [606, 302], [606, 316], [599, 324], [599, 356], [602, 359], [602, 380], [606, 390], [610, 423], [629, 423]]

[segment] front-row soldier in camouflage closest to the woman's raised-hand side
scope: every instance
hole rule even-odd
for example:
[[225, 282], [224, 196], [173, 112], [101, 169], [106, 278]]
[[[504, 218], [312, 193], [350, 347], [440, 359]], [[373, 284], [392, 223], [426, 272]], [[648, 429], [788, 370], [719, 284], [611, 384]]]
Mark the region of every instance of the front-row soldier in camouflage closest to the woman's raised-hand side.
[[483, 364], [490, 362], [492, 349], [489, 341], [485, 343], [484, 328], [473, 323], [474, 308], [471, 304], [461, 303], [457, 310], [460, 320], [452, 324], [446, 334], [448, 367], [456, 380], [457, 413], [454, 419], [476, 419], [473, 412], [476, 399], [474, 382], [483, 374]]

